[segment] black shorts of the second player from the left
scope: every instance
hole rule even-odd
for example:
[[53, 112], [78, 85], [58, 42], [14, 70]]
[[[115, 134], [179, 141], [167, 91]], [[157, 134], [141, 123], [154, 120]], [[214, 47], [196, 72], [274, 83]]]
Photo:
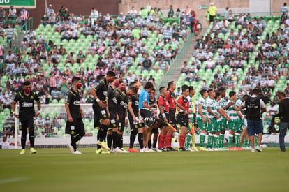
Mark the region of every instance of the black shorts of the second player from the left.
[[84, 124], [81, 118], [73, 118], [73, 122], [66, 121], [65, 133], [70, 135], [85, 135]]

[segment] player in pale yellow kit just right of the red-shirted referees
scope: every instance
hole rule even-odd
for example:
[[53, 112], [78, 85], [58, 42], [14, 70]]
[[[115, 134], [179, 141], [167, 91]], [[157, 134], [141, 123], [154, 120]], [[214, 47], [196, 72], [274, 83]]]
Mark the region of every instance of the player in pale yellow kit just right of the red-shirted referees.
[[[190, 118], [191, 124], [188, 125], [188, 133], [186, 134], [186, 142], [185, 142], [185, 149], [188, 149], [189, 151], [193, 150], [195, 152], [198, 152], [197, 147], [195, 147], [195, 131], [192, 130], [191, 131], [191, 127], [194, 128], [193, 124], [195, 122], [195, 100], [193, 98], [193, 96], [195, 95], [195, 89], [193, 89], [193, 86], [188, 87], [188, 102], [190, 102], [190, 109], [191, 112], [188, 115], [188, 117]], [[190, 149], [190, 142], [192, 140], [192, 149]]]

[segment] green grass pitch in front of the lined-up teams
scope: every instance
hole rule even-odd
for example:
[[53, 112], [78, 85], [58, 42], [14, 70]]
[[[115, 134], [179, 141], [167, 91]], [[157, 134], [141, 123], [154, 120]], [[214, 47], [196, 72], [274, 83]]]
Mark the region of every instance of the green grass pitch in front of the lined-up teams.
[[[27, 150], [28, 151], [28, 150]], [[0, 191], [288, 191], [289, 152], [0, 150]]]

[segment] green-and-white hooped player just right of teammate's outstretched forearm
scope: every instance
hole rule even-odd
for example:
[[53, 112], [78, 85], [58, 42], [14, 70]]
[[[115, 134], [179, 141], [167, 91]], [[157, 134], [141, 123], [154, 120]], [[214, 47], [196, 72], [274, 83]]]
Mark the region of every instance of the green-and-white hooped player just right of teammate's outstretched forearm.
[[[229, 97], [230, 97], [229, 98], [230, 103], [235, 103], [237, 101], [237, 96], [236, 96], [235, 91], [230, 91]], [[232, 119], [232, 121], [228, 121], [228, 127], [229, 127], [228, 149], [229, 150], [238, 150], [232, 145], [233, 137], [235, 135], [235, 128], [237, 126], [237, 121], [238, 121], [238, 115], [239, 115], [239, 112], [237, 112], [238, 110], [239, 108], [237, 107], [235, 103], [234, 105], [230, 106], [230, 108], [228, 108], [228, 112], [227, 112], [230, 119]], [[238, 135], [237, 135], [237, 139], [238, 139]], [[238, 147], [238, 144], [236, 147]]]

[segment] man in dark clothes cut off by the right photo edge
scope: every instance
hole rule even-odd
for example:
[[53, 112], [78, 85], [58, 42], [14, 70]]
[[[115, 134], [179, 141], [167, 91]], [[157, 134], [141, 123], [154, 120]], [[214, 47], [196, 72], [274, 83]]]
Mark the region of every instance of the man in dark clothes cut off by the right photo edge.
[[279, 93], [279, 113], [277, 117], [280, 117], [281, 123], [280, 123], [280, 133], [279, 133], [279, 144], [281, 153], [285, 152], [285, 144], [284, 144], [284, 138], [286, 135], [287, 128], [289, 128], [289, 99], [286, 98], [286, 95], [281, 92]]

